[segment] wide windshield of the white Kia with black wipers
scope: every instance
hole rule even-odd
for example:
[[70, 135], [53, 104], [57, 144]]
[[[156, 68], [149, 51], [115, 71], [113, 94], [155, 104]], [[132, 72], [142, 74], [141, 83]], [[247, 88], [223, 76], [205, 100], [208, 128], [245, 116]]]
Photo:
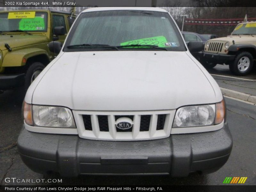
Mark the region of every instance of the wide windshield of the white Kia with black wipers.
[[[80, 46], [72, 46], [80, 45]], [[86, 46], [81, 46], [86, 45]], [[98, 46], [88, 46], [98, 45]], [[119, 50], [186, 51], [180, 33], [165, 12], [120, 10], [82, 13], [71, 29], [63, 51]], [[127, 45], [152, 45], [127, 46]]]

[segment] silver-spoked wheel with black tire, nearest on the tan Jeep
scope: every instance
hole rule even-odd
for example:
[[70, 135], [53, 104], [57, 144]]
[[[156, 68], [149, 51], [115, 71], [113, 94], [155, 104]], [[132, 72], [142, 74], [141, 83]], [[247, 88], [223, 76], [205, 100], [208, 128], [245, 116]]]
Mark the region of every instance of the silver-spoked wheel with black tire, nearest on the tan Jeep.
[[246, 75], [252, 70], [253, 57], [249, 52], [239, 53], [232, 63], [229, 63], [229, 70], [235, 75]]

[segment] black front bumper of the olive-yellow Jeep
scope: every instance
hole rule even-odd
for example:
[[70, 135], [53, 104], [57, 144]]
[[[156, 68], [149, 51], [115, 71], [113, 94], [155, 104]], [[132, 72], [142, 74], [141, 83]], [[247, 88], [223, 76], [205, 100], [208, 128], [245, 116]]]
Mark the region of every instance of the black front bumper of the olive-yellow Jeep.
[[25, 74], [6, 75], [0, 74], [0, 90], [10, 89], [24, 84]]

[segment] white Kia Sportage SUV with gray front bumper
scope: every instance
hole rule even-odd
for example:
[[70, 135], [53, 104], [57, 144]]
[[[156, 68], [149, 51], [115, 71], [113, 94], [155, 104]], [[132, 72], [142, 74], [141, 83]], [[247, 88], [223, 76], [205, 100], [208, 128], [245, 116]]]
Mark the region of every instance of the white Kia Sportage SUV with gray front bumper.
[[232, 137], [220, 88], [159, 8], [80, 13], [59, 55], [30, 85], [18, 139], [36, 172], [209, 173]]

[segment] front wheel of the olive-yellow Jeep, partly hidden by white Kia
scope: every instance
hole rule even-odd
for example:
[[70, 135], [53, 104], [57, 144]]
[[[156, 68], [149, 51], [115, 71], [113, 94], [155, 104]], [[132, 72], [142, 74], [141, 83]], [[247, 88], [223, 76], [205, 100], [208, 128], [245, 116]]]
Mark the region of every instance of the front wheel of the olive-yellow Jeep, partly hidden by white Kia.
[[45, 66], [40, 62], [35, 62], [29, 66], [26, 76], [25, 76], [25, 88], [26, 89], [28, 89], [30, 84], [43, 71], [44, 67]]

